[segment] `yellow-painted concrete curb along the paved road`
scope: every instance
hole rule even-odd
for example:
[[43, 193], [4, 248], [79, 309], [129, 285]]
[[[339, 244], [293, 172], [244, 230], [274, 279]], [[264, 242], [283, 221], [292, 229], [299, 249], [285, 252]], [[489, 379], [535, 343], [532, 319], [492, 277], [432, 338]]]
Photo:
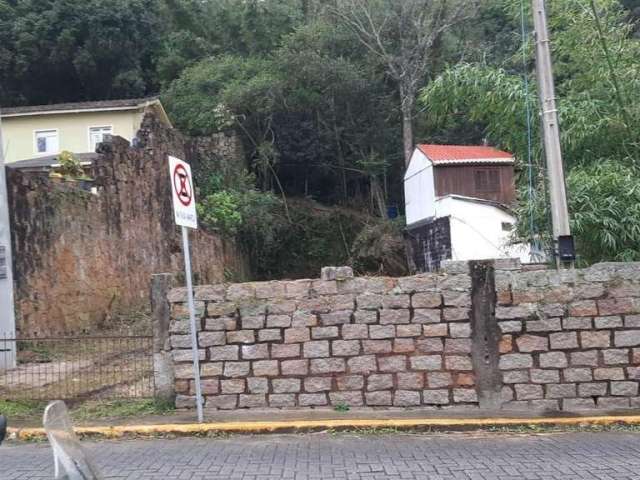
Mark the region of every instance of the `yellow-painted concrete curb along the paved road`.
[[[318, 430], [398, 429], [460, 431], [518, 426], [586, 427], [606, 425], [640, 425], [640, 415], [547, 417], [547, 418], [430, 418], [430, 419], [342, 419], [297, 420], [274, 422], [217, 422], [165, 425], [115, 425], [108, 427], [76, 427], [80, 436], [121, 438], [126, 436], [154, 437], [164, 435], [189, 436], [216, 433], [287, 433]], [[9, 428], [9, 438], [36, 440], [46, 437], [43, 428]]]

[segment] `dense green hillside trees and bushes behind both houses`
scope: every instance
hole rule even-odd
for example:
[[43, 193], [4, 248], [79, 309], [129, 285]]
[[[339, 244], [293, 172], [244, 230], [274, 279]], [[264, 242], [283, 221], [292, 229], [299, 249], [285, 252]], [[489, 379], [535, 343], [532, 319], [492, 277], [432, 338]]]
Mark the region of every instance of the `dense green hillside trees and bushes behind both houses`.
[[[239, 132], [251, 176], [201, 175], [201, 216], [242, 241], [260, 278], [331, 261], [401, 270], [385, 218], [403, 204], [411, 136], [514, 152], [518, 234], [548, 237], [527, 1], [76, 3], [0, 0], [0, 104], [161, 93], [182, 130]], [[640, 0], [548, 7], [578, 253], [640, 259]]]

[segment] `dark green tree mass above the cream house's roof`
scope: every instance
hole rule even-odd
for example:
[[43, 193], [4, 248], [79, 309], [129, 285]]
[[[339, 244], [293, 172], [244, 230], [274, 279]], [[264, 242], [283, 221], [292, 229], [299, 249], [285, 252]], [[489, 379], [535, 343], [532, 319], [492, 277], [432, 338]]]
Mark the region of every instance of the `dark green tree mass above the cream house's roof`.
[[0, 0], [0, 103], [151, 93], [160, 31], [157, 0]]

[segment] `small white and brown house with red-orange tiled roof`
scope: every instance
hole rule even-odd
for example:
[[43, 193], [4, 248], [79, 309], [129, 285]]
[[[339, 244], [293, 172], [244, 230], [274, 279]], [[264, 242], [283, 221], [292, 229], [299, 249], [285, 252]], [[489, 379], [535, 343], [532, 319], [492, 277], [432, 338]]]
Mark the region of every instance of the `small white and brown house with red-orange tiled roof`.
[[512, 244], [516, 218], [514, 158], [487, 146], [418, 145], [404, 177], [411, 256], [420, 271], [443, 260], [520, 258]]

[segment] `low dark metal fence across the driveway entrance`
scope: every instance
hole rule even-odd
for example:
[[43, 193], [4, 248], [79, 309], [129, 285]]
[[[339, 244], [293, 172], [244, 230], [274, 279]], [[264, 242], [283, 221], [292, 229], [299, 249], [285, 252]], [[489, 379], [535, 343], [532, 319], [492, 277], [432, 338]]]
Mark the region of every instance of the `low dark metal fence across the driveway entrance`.
[[0, 399], [146, 398], [153, 394], [152, 336], [9, 338], [0, 334]]

